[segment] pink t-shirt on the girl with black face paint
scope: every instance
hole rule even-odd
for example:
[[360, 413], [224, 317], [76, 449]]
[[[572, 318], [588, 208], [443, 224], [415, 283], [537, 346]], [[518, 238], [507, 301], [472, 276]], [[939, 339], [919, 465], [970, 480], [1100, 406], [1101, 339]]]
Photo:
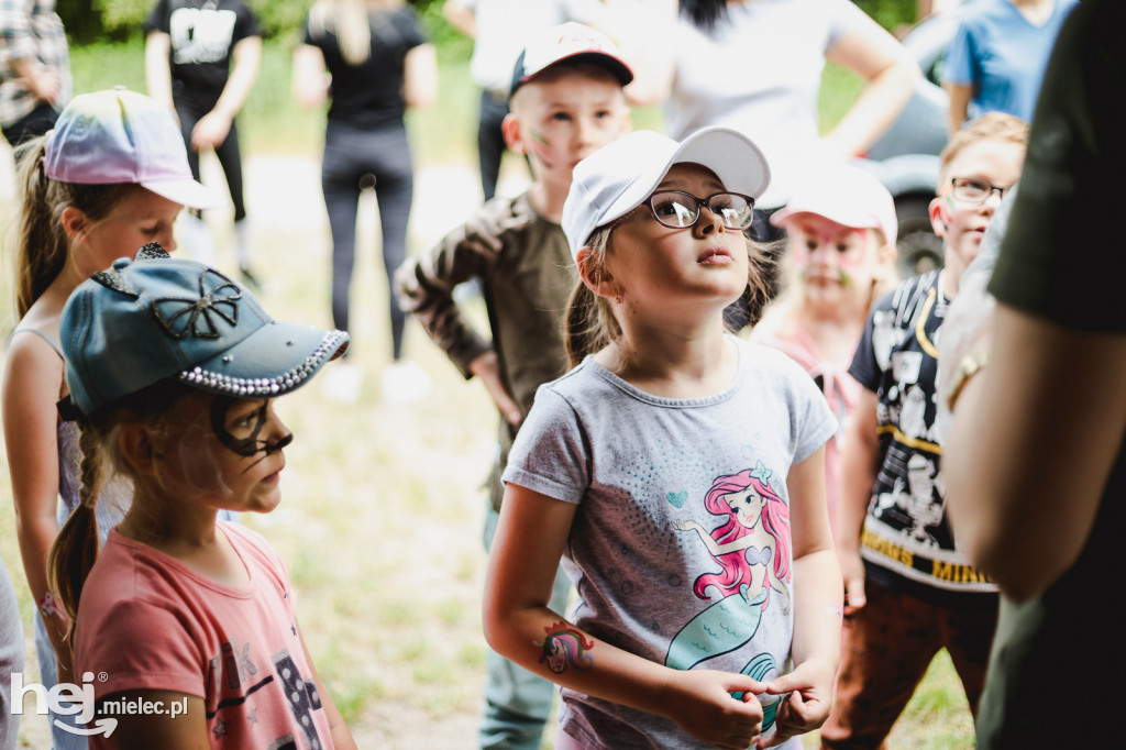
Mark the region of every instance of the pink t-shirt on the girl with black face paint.
[[[244, 526], [218, 528], [250, 573], [245, 587], [109, 533], [82, 590], [75, 672], [98, 676], [99, 699], [129, 689], [203, 697], [212, 748], [331, 749], [282, 561]], [[95, 735], [90, 747], [110, 744]]]

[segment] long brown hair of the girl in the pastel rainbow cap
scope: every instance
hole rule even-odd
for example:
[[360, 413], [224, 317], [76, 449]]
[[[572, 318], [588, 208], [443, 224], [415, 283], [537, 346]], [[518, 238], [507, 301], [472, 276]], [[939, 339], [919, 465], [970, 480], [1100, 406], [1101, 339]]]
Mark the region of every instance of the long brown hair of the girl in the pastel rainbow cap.
[[92, 221], [105, 218], [133, 190], [132, 184], [77, 185], [48, 178], [43, 161], [46, 136], [33, 139], [17, 150], [17, 184], [21, 206], [16, 238], [16, 313], [19, 318], [51, 286], [66, 265], [70, 239], [63, 231], [62, 214], [68, 207]]

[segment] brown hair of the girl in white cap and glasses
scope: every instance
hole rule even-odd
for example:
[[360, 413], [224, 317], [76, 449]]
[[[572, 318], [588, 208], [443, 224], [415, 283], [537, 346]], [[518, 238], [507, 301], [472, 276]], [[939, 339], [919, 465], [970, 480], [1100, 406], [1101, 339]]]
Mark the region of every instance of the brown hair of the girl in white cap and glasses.
[[[607, 224], [596, 229], [586, 247], [590, 255], [586, 262], [590, 270], [598, 274], [606, 265], [607, 256], [613, 252], [614, 225]], [[767, 245], [751, 240], [747, 234], [747, 284], [740, 301], [747, 304], [751, 321], [756, 322], [762, 315], [762, 309], [769, 301], [769, 279], [774, 277], [775, 253], [767, 252]], [[614, 309], [605, 297], [595, 294], [580, 278], [571, 292], [564, 319], [564, 343], [566, 345], [568, 366], [574, 367], [587, 355], [608, 346], [622, 336], [622, 325], [614, 316]]]

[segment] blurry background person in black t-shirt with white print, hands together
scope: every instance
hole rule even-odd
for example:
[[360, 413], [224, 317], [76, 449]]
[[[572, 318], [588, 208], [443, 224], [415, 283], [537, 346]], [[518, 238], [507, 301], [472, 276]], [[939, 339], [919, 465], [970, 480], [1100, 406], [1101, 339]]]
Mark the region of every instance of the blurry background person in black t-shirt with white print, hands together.
[[[242, 0], [158, 0], [144, 29], [149, 96], [179, 118], [194, 178], [199, 179], [199, 152], [215, 150], [234, 204], [239, 270], [248, 284], [257, 286], [250, 268], [253, 245], [235, 116], [261, 64], [258, 19]], [[184, 221], [188, 255], [214, 266], [215, 241], [203, 213], [189, 208]]]

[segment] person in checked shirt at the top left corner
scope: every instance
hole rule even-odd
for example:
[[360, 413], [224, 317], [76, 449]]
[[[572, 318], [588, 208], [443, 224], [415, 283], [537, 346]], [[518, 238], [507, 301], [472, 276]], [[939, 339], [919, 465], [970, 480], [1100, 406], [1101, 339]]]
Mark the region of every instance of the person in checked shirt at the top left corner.
[[70, 51], [55, 0], [0, 0], [0, 130], [16, 148], [70, 101]]

